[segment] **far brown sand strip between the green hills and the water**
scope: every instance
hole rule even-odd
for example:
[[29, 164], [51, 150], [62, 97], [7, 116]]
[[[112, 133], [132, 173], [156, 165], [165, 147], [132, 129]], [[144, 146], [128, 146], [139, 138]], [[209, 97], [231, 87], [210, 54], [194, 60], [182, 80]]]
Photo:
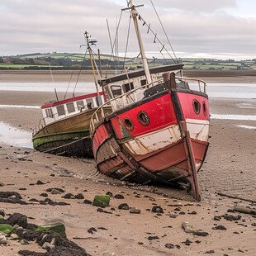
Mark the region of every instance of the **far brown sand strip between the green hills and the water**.
[[[52, 72], [55, 82], [68, 83], [70, 78], [78, 78], [78, 70], [54, 70]], [[206, 82], [222, 83], [256, 83], [256, 70], [184, 70], [185, 77], [201, 78]], [[109, 76], [111, 73], [109, 72]], [[93, 82], [91, 71], [83, 70], [80, 82]], [[48, 70], [0, 70], [0, 83], [52, 83]]]

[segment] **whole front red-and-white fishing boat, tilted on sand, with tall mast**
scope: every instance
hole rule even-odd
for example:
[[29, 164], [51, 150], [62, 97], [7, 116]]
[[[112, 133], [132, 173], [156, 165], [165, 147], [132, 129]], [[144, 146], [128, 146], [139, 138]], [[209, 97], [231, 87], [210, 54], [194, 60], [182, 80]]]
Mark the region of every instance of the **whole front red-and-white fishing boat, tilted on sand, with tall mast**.
[[[197, 173], [208, 148], [206, 83], [183, 77], [183, 64], [149, 69], [136, 7], [129, 2], [144, 69], [99, 83], [108, 101], [92, 115], [92, 151], [100, 172], [131, 183], [178, 183], [200, 201]], [[192, 83], [192, 87], [189, 85]], [[103, 107], [111, 105], [105, 115]]]

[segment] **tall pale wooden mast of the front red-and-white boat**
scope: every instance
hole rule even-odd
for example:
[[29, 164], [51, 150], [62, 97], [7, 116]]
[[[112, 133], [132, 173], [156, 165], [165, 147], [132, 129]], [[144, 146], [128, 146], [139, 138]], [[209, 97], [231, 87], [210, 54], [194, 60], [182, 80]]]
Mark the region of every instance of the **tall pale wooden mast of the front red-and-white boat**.
[[[149, 65], [147, 62], [146, 55], [145, 55], [144, 45], [143, 45], [143, 42], [141, 39], [140, 29], [138, 26], [138, 19], [137, 19], [138, 13], [136, 12], [136, 9], [132, 3], [132, 0], [130, 0], [129, 5], [130, 5], [129, 9], [131, 9], [131, 16], [132, 16], [132, 19], [133, 19], [133, 22], [135, 25], [137, 40], [138, 40], [138, 43], [140, 46], [140, 55], [141, 55], [141, 59], [142, 59], [143, 68], [145, 70], [145, 76], [146, 76], [147, 82], [151, 83], [152, 81], [151, 81], [151, 77], [150, 77], [150, 73], [149, 73]], [[143, 5], [141, 5], [141, 6], [143, 6]]]

